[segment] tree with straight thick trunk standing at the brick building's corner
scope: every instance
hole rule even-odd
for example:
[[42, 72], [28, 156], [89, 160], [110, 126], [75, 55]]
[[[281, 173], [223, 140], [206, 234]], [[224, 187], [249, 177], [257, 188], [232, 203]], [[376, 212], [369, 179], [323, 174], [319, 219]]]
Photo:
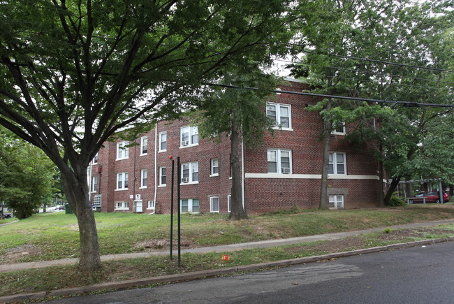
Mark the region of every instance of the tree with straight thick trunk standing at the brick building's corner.
[[265, 107], [270, 91], [277, 87], [277, 79], [262, 70], [263, 67], [255, 62], [249, 62], [226, 73], [221, 81], [224, 86], [202, 99], [200, 108], [203, 110], [196, 113], [202, 137], [218, 141], [230, 139], [232, 189], [229, 219], [247, 218], [242, 205], [240, 144], [254, 146], [261, 143], [265, 131], [273, 131], [275, 123], [267, 117]]

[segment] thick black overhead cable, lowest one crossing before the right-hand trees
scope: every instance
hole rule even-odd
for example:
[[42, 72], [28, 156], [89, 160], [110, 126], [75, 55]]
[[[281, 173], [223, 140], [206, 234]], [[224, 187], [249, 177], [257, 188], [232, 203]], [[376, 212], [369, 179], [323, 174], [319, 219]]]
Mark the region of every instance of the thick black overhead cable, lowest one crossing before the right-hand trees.
[[[230, 89], [258, 89], [257, 87], [240, 87], [238, 85], [221, 85], [221, 84], [208, 84], [215, 85], [219, 87], [226, 87]], [[376, 103], [391, 103], [391, 104], [402, 104], [402, 106], [407, 107], [439, 107], [439, 108], [454, 108], [454, 104], [439, 104], [439, 103], [418, 103], [413, 101], [391, 101], [383, 99], [367, 99], [362, 97], [349, 97], [349, 96], [338, 96], [338, 95], [328, 95], [328, 94], [316, 94], [316, 93], [307, 93], [307, 92], [293, 92], [293, 91], [281, 91], [279, 89], [270, 89], [270, 92], [279, 93], [279, 94], [293, 94], [293, 95], [305, 95], [305, 96], [314, 96], [314, 97], [325, 97], [333, 99], [346, 99], [353, 101], [369, 101]]]

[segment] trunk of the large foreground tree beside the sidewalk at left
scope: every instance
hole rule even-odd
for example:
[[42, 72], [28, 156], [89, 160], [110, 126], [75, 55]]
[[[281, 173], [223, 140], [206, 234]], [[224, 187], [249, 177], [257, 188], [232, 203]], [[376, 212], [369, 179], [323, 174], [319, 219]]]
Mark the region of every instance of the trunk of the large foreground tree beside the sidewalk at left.
[[92, 271], [101, 267], [98, 231], [88, 197], [87, 173], [61, 174], [68, 204], [78, 219], [80, 238], [79, 269]]

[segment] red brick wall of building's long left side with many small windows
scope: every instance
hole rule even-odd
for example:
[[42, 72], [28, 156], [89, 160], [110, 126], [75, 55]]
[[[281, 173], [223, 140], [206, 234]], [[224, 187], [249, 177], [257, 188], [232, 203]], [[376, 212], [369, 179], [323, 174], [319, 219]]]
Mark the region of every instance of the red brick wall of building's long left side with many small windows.
[[[175, 186], [174, 186], [174, 212], [177, 212], [177, 157], [180, 157], [180, 164], [198, 161], [198, 184], [181, 184], [180, 198], [198, 198], [200, 201], [200, 212], [210, 212], [210, 196], [219, 196], [220, 212], [227, 212], [227, 196], [230, 194], [231, 180], [229, 179], [229, 157], [230, 157], [230, 140], [224, 140], [221, 144], [216, 144], [212, 140], [202, 139], [199, 137], [199, 145], [180, 148], [180, 128], [189, 125], [189, 122], [175, 121], [173, 124], [168, 122], [159, 122], [157, 131], [157, 140], [159, 143], [159, 133], [167, 132], [167, 149], [165, 152], [157, 153], [156, 178], [159, 186], [159, 167], [166, 166], [167, 178], [166, 186], [157, 187], [156, 192], [156, 213], [170, 213], [170, 188], [171, 188], [171, 155], [175, 161]], [[116, 160], [117, 158], [117, 140], [115, 143], [105, 143], [105, 147], [98, 155], [98, 165], [103, 166], [101, 176], [101, 194], [103, 194], [102, 212], [114, 212], [115, 202], [129, 202], [129, 210], [116, 212], [132, 212], [133, 199], [140, 194], [142, 199], [143, 212], [147, 210], [147, 201], [154, 201], [154, 179], [155, 179], [155, 129], [147, 133], [148, 152], [147, 155], [140, 155], [140, 136], [136, 142], [136, 148], [129, 147], [129, 158]], [[159, 150], [159, 147], [158, 147]], [[136, 158], [134, 159], [134, 155]], [[219, 160], [219, 176], [210, 177], [211, 159]], [[136, 170], [134, 171], [134, 164]], [[95, 171], [93, 166], [92, 171]], [[180, 165], [181, 166], [181, 165]], [[181, 168], [181, 167], [180, 167]], [[147, 169], [147, 188], [140, 189], [140, 171]], [[117, 191], [117, 173], [128, 172], [129, 184], [127, 190]], [[134, 173], [136, 180], [134, 180]], [[93, 173], [95, 174], [95, 173]], [[96, 193], [98, 194], [99, 191]], [[91, 196], [94, 201], [94, 194]]]

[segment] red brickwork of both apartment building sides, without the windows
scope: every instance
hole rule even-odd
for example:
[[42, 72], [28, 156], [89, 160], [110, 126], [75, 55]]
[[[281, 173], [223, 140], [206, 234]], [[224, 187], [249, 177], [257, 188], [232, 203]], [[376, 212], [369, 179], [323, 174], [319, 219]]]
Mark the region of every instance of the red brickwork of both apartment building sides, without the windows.
[[[307, 85], [290, 82], [281, 86], [283, 91], [298, 91], [307, 89]], [[264, 143], [257, 148], [245, 148], [244, 171], [246, 173], [267, 174], [267, 150], [269, 148], [288, 149], [292, 151], [292, 173], [297, 175], [321, 175], [323, 144], [321, 131], [323, 122], [318, 113], [307, 111], [307, 103], [314, 104], [316, 99], [310, 96], [279, 94], [275, 103], [291, 105], [291, 127], [293, 131], [276, 130], [274, 137], [265, 134]], [[210, 196], [219, 196], [220, 212], [227, 212], [227, 196], [230, 194], [231, 180], [229, 169], [230, 140], [226, 139], [217, 144], [199, 136], [199, 145], [180, 148], [180, 128], [189, 122], [175, 121], [159, 122], [159, 133], [167, 132], [167, 150], [157, 153], [157, 175], [159, 166], [167, 168], [166, 187], [158, 187], [156, 193], [156, 213], [170, 213], [170, 183], [172, 155], [175, 161], [175, 193], [174, 204], [177, 203], [177, 157], [180, 163], [198, 161], [198, 184], [182, 184], [181, 198], [198, 198], [200, 212], [210, 212]], [[131, 195], [140, 194], [143, 212], [147, 210], [147, 201], [154, 200], [155, 178], [155, 140], [156, 130], [147, 133], [148, 152], [140, 155], [140, 137], [136, 148], [129, 147], [129, 159], [116, 160], [117, 143], [105, 143], [98, 154], [98, 165], [102, 166], [101, 180], [98, 180], [98, 193], [103, 194], [102, 211], [114, 212], [116, 201], [129, 202], [129, 210], [133, 211]], [[365, 152], [358, 152], [343, 140], [344, 136], [332, 136], [331, 151], [346, 153], [346, 171], [348, 175], [378, 175], [374, 158]], [[119, 140], [120, 141], [120, 140]], [[134, 157], [135, 155], [135, 157]], [[219, 176], [210, 177], [210, 160], [219, 159]], [[135, 170], [134, 170], [135, 166]], [[147, 169], [147, 188], [140, 189], [140, 170]], [[117, 173], [129, 173], [129, 187], [124, 191], [117, 188]], [[94, 173], [97, 174], [97, 173]], [[134, 181], [134, 175], [136, 180]], [[247, 212], [260, 213], [271, 210], [298, 208], [317, 208], [320, 194], [320, 179], [307, 178], [246, 178], [244, 184], [245, 207]], [[159, 182], [158, 182], [159, 184]], [[101, 191], [101, 192], [100, 192]], [[379, 181], [374, 179], [329, 179], [328, 195], [344, 195], [344, 208], [360, 208], [374, 206], [379, 197]], [[94, 199], [94, 194], [91, 195]], [[174, 206], [174, 212], [176, 207]], [[122, 212], [122, 211], [119, 211]]]

